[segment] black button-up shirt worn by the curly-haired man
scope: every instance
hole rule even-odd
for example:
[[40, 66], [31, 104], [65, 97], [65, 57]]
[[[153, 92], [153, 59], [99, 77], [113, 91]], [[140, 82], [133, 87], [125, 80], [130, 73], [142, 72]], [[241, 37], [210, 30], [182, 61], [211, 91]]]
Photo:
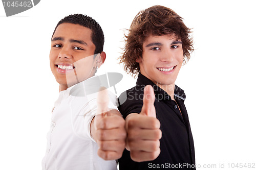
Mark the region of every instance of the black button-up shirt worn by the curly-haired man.
[[[152, 85], [155, 91], [156, 116], [161, 123], [160, 155], [153, 161], [134, 162], [126, 149], [118, 160], [119, 169], [196, 169], [195, 149], [187, 111], [184, 91], [175, 85], [174, 100], [163, 89], [139, 74], [137, 85], [123, 92], [119, 98], [119, 111], [125, 119], [130, 113], [140, 113], [143, 105], [143, 89]], [[178, 106], [177, 106], [178, 104]], [[180, 110], [181, 112], [180, 112]], [[181, 114], [182, 113], [182, 114]]]

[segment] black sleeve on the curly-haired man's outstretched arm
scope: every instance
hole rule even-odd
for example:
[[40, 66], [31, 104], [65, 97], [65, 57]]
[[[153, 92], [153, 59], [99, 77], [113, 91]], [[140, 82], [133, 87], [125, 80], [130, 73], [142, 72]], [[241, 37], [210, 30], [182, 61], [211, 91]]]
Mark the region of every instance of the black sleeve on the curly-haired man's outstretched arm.
[[125, 119], [131, 113], [140, 113], [143, 106], [143, 92], [136, 90], [124, 91], [118, 98], [120, 113]]

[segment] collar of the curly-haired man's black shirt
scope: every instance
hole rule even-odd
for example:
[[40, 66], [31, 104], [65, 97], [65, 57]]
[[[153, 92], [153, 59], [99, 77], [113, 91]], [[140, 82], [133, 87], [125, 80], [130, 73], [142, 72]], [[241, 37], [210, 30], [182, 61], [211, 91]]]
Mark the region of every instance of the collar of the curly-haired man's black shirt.
[[[160, 98], [165, 99], [165, 100], [166, 99], [170, 100], [170, 96], [166, 91], [161, 89], [159, 86], [157, 86], [155, 83], [153, 83], [150, 79], [148, 79], [147, 77], [145, 77], [141, 73], [139, 73], [136, 84], [137, 85], [144, 85], [144, 86], [151, 85], [154, 88], [155, 93], [158, 93], [158, 94], [162, 95], [162, 97], [160, 97]], [[159, 95], [159, 96], [161, 96], [161, 95]], [[184, 90], [182, 90], [180, 87], [178, 87], [176, 85], [175, 85], [175, 90], [174, 90], [174, 99], [175, 100], [176, 99], [177, 100], [182, 100], [182, 101], [185, 101], [185, 99], [186, 99], [186, 95], [184, 93]]]

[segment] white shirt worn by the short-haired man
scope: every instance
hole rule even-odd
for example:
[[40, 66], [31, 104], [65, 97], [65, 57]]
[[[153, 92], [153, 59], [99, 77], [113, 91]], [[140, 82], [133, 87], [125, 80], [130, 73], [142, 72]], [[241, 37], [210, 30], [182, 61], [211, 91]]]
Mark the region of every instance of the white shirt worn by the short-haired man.
[[[88, 89], [99, 89], [100, 83], [88, 80], [59, 93], [47, 134], [42, 169], [117, 169], [115, 160], [105, 161], [98, 156], [98, 145], [90, 134], [90, 124], [97, 110], [97, 92], [91, 93]], [[117, 109], [116, 95], [109, 92], [109, 97], [109, 108]]]

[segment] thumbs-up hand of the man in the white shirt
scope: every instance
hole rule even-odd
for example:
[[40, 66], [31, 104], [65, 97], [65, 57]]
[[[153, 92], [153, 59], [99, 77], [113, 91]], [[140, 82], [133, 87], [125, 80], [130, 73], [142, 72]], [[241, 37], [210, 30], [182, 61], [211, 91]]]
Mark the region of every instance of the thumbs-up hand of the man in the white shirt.
[[98, 144], [98, 156], [104, 160], [115, 160], [122, 156], [125, 148], [125, 120], [116, 109], [108, 108], [108, 90], [100, 89], [97, 98], [97, 115], [91, 123], [91, 134]]

